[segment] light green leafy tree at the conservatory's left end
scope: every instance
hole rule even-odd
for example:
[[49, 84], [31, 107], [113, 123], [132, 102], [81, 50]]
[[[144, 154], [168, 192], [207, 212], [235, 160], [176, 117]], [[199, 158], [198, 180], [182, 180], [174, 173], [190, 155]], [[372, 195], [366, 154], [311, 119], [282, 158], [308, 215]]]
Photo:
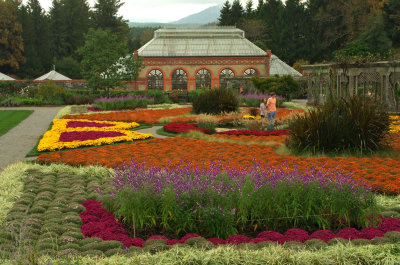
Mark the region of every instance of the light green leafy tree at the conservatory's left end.
[[85, 44], [78, 50], [83, 57], [82, 72], [87, 86], [104, 89], [124, 87], [125, 81], [137, 80], [141, 60], [126, 56], [126, 43], [110, 29], [90, 29], [85, 35]]

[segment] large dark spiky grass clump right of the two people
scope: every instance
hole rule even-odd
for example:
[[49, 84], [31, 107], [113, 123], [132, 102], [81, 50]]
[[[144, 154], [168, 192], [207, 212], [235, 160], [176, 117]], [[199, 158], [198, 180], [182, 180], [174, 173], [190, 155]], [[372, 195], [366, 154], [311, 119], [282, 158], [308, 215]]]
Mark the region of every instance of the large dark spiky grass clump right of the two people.
[[384, 146], [388, 114], [369, 99], [328, 101], [289, 122], [288, 146], [296, 152], [373, 152]]

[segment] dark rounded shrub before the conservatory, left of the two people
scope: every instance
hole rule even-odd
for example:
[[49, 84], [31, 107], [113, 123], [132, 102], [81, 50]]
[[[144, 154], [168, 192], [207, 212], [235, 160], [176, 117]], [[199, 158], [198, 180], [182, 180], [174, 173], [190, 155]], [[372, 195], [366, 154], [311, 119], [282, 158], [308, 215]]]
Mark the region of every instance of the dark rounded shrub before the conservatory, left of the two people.
[[227, 88], [206, 90], [193, 100], [193, 111], [197, 114], [219, 114], [238, 109], [238, 100]]

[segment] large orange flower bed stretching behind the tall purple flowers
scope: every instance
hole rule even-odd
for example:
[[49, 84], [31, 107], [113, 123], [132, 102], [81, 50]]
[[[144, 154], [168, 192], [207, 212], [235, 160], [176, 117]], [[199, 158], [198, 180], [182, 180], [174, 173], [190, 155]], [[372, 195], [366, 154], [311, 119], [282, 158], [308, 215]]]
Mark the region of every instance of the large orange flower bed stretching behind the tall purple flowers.
[[[116, 146], [94, 147], [81, 150], [60, 151], [41, 154], [39, 162], [64, 162], [71, 165], [100, 164], [107, 167], [135, 161], [145, 161], [147, 165], [176, 165], [181, 160], [195, 164], [209, 164], [220, 161], [237, 167], [250, 165], [256, 159], [263, 165], [279, 166], [288, 162], [289, 166], [306, 167], [324, 166], [339, 167], [345, 172], [353, 172], [355, 179], [370, 181], [378, 191], [400, 193], [400, 158], [356, 158], [356, 157], [322, 157], [304, 158], [278, 155], [274, 147], [266, 145], [240, 145], [236, 143], [207, 142], [182, 137], [153, 139], [145, 142], [121, 144]], [[91, 159], [88, 159], [91, 158]]]

